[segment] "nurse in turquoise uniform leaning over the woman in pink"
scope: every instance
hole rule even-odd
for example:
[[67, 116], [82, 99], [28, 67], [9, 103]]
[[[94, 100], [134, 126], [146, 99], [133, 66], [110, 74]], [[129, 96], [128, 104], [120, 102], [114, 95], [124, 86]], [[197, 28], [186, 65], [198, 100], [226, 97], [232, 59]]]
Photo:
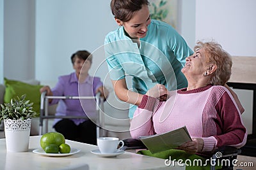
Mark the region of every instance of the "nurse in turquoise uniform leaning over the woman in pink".
[[[193, 54], [186, 41], [171, 25], [150, 18], [147, 0], [112, 0], [111, 10], [118, 29], [105, 38], [106, 61], [116, 96], [131, 104], [132, 118], [143, 94], [157, 83], [168, 90], [188, 85], [181, 69]], [[125, 76], [132, 76], [127, 87]], [[128, 84], [129, 85], [129, 84]]]

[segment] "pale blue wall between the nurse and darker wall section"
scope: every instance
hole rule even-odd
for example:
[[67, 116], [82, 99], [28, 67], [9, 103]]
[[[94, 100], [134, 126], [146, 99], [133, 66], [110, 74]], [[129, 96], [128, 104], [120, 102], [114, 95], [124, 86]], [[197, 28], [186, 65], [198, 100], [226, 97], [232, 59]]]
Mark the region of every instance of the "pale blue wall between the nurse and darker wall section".
[[[70, 56], [77, 50], [93, 53], [94, 74], [104, 60], [104, 38], [117, 27], [109, 4], [110, 0], [36, 1], [36, 79], [51, 83], [74, 71]], [[106, 77], [106, 69], [96, 75]]]

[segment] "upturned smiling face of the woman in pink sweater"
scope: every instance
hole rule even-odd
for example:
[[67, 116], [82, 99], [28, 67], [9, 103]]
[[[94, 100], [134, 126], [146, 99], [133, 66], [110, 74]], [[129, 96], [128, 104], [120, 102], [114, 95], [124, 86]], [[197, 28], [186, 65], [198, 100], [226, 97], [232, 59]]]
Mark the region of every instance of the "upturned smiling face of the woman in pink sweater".
[[186, 64], [182, 73], [192, 76], [203, 76], [207, 67], [204, 49], [197, 50], [193, 55], [186, 58]]

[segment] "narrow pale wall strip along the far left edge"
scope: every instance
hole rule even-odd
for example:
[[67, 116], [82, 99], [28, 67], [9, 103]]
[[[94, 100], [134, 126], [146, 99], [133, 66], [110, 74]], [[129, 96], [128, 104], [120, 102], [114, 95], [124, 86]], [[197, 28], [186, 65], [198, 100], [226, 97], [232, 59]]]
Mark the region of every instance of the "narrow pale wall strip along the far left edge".
[[4, 0], [0, 0], [0, 83], [3, 83], [4, 75]]

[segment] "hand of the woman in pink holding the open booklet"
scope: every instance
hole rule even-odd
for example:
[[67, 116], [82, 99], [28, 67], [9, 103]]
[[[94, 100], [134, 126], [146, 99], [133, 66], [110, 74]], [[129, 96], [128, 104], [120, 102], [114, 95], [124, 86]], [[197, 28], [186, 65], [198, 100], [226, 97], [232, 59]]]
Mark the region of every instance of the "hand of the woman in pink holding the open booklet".
[[196, 152], [202, 152], [204, 148], [204, 139], [193, 138], [192, 141], [186, 142], [179, 146], [177, 149], [184, 150], [188, 153], [195, 154]]

